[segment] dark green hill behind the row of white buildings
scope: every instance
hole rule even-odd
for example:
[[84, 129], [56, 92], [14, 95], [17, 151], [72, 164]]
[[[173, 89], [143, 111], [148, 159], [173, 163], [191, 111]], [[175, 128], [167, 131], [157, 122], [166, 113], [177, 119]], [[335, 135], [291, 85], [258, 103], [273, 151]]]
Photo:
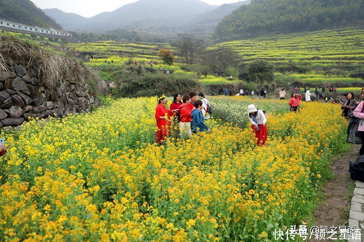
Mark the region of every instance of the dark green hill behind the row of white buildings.
[[61, 25], [30, 0], [0, 0], [0, 19], [43, 28], [62, 29]]

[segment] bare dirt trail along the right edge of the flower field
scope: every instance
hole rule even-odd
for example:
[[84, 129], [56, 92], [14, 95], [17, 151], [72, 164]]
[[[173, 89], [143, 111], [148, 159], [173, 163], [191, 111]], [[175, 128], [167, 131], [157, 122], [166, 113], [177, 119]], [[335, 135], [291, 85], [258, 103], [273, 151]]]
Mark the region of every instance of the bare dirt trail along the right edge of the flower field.
[[[347, 201], [345, 198], [348, 192], [348, 186], [352, 182], [348, 173], [349, 161], [357, 159], [359, 155], [358, 149], [360, 147], [360, 144], [352, 145], [349, 152], [341, 155], [331, 164], [331, 170], [335, 174], [335, 177], [324, 185], [324, 199], [313, 213], [315, 217], [313, 222], [314, 226], [339, 227], [347, 225], [348, 215], [345, 214], [344, 210], [351, 201]], [[309, 240], [309, 242], [313, 241], [322, 241], [322, 239]]]

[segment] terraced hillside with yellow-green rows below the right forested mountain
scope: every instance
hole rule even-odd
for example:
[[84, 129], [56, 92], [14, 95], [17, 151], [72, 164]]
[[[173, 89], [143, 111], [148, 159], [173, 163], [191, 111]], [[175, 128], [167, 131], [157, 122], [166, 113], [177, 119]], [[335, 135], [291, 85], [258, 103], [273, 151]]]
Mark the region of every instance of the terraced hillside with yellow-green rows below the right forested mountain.
[[263, 58], [282, 73], [346, 75], [364, 72], [363, 42], [364, 30], [338, 29], [229, 41], [209, 49], [233, 50], [244, 62]]

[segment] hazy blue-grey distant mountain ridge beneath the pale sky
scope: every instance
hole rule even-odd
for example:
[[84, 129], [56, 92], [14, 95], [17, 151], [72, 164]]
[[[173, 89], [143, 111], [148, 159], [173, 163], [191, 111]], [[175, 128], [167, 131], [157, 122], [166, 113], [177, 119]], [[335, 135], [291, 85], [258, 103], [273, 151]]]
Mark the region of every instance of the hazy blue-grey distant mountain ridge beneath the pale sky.
[[44, 12], [74, 31], [103, 32], [116, 28], [169, 31], [182, 29], [190, 19], [215, 8], [218, 6], [200, 0], [139, 0], [90, 18], [58, 9], [44, 9]]

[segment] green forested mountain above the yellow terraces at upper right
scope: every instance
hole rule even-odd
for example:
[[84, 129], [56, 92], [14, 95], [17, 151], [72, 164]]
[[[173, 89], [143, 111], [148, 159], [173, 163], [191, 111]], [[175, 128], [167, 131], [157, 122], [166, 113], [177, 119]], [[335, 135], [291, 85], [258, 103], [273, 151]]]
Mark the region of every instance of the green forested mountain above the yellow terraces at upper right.
[[252, 0], [219, 22], [215, 38], [363, 24], [363, 0]]

